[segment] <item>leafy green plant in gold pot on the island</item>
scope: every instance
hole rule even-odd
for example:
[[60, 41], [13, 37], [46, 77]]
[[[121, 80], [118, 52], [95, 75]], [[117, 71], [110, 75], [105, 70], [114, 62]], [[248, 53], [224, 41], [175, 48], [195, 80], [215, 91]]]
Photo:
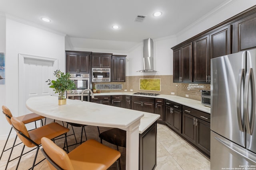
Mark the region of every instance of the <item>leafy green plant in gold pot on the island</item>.
[[54, 71], [54, 76], [57, 78], [56, 80], [48, 79], [46, 82], [49, 82], [50, 88], [53, 88], [55, 93], [58, 93], [58, 103], [59, 105], [66, 104], [66, 90], [76, 89], [76, 85], [73, 80], [70, 80], [70, 73], [61, 72], [60, 70]]

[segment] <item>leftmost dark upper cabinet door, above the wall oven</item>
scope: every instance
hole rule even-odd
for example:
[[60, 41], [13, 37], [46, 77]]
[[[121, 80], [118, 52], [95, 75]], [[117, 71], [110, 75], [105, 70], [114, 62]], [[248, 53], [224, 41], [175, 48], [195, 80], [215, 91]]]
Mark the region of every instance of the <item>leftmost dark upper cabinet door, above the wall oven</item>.
[[66, 54], [66, 72], [78, 73], [78, 55]]

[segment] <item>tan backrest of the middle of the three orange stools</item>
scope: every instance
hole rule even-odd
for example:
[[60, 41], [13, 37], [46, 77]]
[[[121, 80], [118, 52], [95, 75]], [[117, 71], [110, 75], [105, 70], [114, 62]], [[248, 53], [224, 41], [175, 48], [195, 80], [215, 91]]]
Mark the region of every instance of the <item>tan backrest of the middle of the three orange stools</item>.
[[32, 140], [30, 139], [30, 136], [28, 133], [28, 129], [26, 128], [24, 123], [14, 116], [11, 118], [11, 121], [12, 121], [12, 127], [17, 132], [17, 135], [20, 138], [20, 140], [22, 141], [22, 143], [30, 148], [35, 147], [36, 145], [34, 145], [34, 143], [32, 143]]

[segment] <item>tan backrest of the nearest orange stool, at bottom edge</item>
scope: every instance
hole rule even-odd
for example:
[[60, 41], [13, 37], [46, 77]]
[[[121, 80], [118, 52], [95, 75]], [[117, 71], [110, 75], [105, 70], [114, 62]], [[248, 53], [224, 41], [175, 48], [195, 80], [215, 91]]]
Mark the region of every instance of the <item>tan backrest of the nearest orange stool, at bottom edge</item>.
[[74, 170], [68, 154], [63, 149], [58, 147], [55, 143], [53, 143], [50, 139], [46, 137], [43, 137], [41, 139], [41, 143], [44, 152], [48, 156], [48, 158], [46, 157], [46, 159], [51, 170], [56, 170], [56, 168], [54, 168], [54, 166], [50, 162], [57, 164], [60, 168], [64, 170]]

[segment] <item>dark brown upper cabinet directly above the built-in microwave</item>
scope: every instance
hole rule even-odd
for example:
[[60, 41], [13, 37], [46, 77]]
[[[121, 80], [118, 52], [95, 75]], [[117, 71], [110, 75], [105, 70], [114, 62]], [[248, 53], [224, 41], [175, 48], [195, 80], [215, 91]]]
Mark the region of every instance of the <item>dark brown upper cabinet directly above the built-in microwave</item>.
[[109, 53], [92, 53], [92, 68], [111, 68], [111, 57]]

